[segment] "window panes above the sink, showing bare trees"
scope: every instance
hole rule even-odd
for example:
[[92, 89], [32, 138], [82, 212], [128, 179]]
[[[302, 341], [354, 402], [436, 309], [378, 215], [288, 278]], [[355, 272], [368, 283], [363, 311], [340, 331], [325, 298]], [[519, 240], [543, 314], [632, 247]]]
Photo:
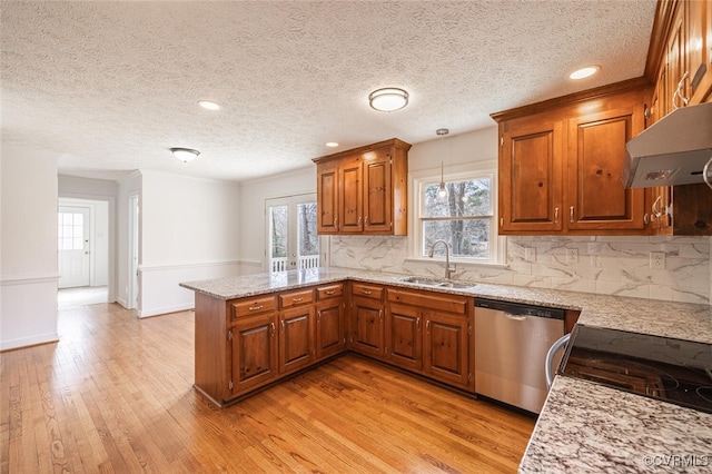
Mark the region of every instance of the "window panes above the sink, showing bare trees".
[[[423, 179], [416, 187], [417, 256], [427, 257], [435, 241], [445, 240], [455, 259], [497, 263], [494, 182], [493, 172], [458, 174], [446, 177], [447, 195], [438, 196], [439, 177]], [[444, 256], [445, 247], [437, 246], [434, 255]]]

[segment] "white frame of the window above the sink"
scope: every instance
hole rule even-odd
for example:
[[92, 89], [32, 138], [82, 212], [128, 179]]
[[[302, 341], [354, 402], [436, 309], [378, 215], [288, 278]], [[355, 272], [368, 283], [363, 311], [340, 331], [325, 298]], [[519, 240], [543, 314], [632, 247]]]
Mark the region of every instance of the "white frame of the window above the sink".
[[[451, 261], [458, 265], [486, 266], [486, 267], [506, 267], [505, 249], [506, 237], [497, 235], [498, 228], [498, 191], [497, 191], [497, 161], [483, 160], [471, 162], [467, 165], [456, 165], [446, 168], [443, 174], [445, 182], [457, 182], [464, 180], [473, 180], [478, 178], [488, 178], [490, 181], [490, 203], [492, 205], [492, 216], [478, 216], [477, 218], [490, 217], [490, 258], [475, 259], [451, 256]], [[408, 260], [433, 261], [431, 258], [423, 256], [423, 194], [426, 186], [439, 184], [441, 168], [431, 168], [421, 171], [414, 171], [411, 176], [411, 189], [408, 192], [409, 208], [413, 209], [413, 218], [408, 225]], [[425, 219], [431, 220], [431, 219]]]

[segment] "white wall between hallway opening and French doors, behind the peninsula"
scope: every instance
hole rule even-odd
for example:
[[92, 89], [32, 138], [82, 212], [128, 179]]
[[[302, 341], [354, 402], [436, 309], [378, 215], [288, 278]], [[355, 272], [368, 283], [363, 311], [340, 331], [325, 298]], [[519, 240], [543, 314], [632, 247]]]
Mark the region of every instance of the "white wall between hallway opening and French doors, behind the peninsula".
[[181, 282], [239, 274], [240, 187], [141, 170], [139, 316], [192, 308]]

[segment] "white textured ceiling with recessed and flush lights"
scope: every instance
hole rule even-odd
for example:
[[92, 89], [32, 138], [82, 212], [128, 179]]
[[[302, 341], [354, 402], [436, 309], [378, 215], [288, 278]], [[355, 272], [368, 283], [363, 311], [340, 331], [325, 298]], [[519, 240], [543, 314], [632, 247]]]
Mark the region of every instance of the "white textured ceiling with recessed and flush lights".
[[[243, 180], [392, 137], [491, 127], [491, 112], [640, 77], [655, 1], [3, 0], [0, 10], [3, 146], [50, 149], [69, 175]], [[589, 63], [601, 73], [566, 79]], [[380, 87], [408, 90], [411, 103], [370, 109]], [[204, 98], [224, 108], [204, 110]], [[201, 155], [181, 164], [170, 147]]]

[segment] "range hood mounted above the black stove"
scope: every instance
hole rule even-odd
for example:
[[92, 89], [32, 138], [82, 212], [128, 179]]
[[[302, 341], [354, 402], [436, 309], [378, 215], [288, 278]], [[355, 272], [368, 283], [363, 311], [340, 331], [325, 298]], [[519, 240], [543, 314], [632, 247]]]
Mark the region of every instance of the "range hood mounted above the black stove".
[[712, 188], [712, 102], [673, 110], [625, 148], [622, 179], [626, 188], [698, 182]]

